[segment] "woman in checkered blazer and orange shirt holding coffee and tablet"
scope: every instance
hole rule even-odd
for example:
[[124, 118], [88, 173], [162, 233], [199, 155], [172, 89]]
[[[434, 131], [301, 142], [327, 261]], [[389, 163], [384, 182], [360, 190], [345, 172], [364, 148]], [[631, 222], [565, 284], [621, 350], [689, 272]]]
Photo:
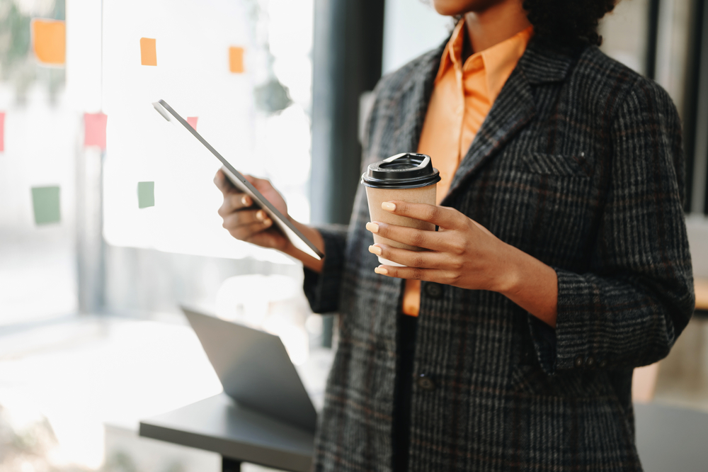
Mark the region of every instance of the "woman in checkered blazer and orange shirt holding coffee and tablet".
[[614, 0], [434, 4], [457, 27], [381, 79], [364, 164], [430, 154], [438, 206], [382, 208], [440, 232], [369, 222], [360, 189], [348, 228], [294, 222], [318, 262], [215, 179], [224, 227], [297, 257], [312, 309], [341, 314], [315, 468], [640, 471], [632, 369], [694, 306], [673, 103], [598, 50]]

